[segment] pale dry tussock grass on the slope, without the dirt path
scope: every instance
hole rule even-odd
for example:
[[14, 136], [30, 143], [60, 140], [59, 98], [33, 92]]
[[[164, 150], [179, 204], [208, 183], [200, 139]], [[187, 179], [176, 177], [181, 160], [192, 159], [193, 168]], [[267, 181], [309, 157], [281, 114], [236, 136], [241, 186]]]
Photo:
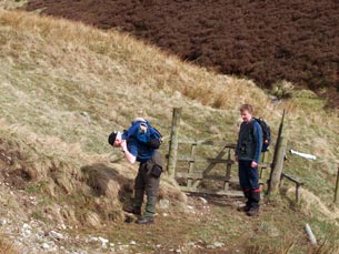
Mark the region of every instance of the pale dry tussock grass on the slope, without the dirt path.
[[[107, 136], [137, 115], [166, 136], [173, 106], [183, 109], [180, 138], [228, 142], [237, 139], [239, 104], [253, 104], [256, 115], [270, 123], [273, 138], [286, 110], [289, 149], [319, 158], [291, 158], [288, 171], [302, 177], [323, 205], [332, 200], [338, 115], [322, 110], [322, 102], [316, 104], [313, 98], [291, 96], [275, 104], [250, 80], [181, 62], [128, 34], [3, 10], [0, 85], [0, 139], [20, 152], [11, 170], [24, 171], [48, 194], [37, 211], [44, 219], [53, 214], [60, 222], [89, 222], [93, 227], [104, 220], [122, 220], [119, 200], [131, 194], [136, 166], [109, 162]], [[186, 202], [166, 176], [160, 196], [177, 202], [176, 207]], [[54, 201], [71, 205], [60, 209]], [[292, 243], [287, 240], [281, 250]]]

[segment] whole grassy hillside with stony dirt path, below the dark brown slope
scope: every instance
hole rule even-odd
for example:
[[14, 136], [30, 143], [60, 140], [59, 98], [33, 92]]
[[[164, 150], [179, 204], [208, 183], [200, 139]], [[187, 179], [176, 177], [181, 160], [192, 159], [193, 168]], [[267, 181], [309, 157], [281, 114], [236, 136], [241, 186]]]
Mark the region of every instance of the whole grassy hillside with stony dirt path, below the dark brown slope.
[[[310, 91], [271, 101], [252, 81], [216, 74], [130, 34], [80, 22], [0, 10], [0, 246], [18, 253], [277, 253], [338, 250], [338, 112]], [[236, 211], [237, 200], [181, 193], [163, 176], [157, 223], [123, 223], [136, 166], [112, 161], [107, 144], [141, 115], [167, 136], [175, 106], [180, 138], [235, 142], [240, 103], [268, 119], [273, 136], [286, 110], [289, 173], [306, 185], [263, 200], [259, 217]], [[167, 153], [168, 143], [162, 145]], [[166, 203], [166, 202], [164, 202]], [[321, 243], [305, 234], [310, 223]], [[56, 234], [57, 233], [57, 234]], [[142, 237], [140, 237], [142, 235]], [[100, 238], [101, 237], [101, 238]], [[108, 242], [106, 242], [106, 240]], [[12, 250], [14, 253], [16, 250]]]

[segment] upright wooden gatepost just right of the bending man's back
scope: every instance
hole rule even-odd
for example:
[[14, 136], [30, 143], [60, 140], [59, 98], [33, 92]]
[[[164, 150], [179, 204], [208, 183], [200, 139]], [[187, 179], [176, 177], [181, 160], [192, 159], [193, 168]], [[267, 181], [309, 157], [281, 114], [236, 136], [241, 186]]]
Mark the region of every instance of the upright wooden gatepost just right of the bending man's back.
[[181, 108], [175, 108], [173, 116], [172, 116], [171, 138], [169, 142], [168, 163], [167, 163], [167, 172], [170, 177], [175, 177], [176, 175], [180, 119], [181, 119]]

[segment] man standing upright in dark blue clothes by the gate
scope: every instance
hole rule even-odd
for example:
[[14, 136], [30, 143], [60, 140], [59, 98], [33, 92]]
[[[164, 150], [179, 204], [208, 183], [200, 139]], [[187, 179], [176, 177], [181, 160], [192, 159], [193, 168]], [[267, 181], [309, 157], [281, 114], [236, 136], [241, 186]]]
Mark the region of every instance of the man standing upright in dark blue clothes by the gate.
[[249, 216], [259, 212], [260, 186], [258, 165], [262, 146], [262, 131], [260, 124], [252, 118], [253, 109], [250, 104], [240, 106], [242, 123], [238, 135], [236, 160], [239, 162], [239, 181], [247, 199], [242, 209]]

